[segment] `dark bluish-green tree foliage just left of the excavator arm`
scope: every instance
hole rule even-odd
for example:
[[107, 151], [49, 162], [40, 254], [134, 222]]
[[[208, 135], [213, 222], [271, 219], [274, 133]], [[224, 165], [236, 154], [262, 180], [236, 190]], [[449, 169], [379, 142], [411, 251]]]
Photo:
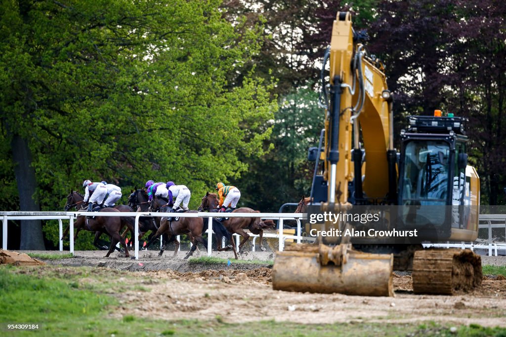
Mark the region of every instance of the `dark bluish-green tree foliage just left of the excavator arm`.
[[241, 204], [263, 212], [277, 212], [287, 202], [309, 196], [314, 163], [307, 161], [310, 146], [318, 146], [324, 111], [318, 107], [312, 83], [279, 100], [270, 141], [274, 149], [249, 163], [237, 186]]

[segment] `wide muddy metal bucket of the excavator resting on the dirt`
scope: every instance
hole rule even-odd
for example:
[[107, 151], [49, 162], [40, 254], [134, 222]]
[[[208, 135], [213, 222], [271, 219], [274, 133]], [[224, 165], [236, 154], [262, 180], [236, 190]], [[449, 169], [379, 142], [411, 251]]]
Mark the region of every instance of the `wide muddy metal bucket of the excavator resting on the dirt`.
[[291, 245], [274, 260], [274, 290], [394, 296], [392, 254], [354, 251], [350, 244]]

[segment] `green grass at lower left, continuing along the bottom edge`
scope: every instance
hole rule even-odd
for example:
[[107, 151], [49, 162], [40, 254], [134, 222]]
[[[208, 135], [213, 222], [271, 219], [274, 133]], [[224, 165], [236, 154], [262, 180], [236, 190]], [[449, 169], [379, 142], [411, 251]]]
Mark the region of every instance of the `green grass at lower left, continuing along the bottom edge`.
[[[3, 335], [42, 336], [506, 336], [506, 328], [477, 324], [452, 327], [423, 324], [351, 322], [300, 324], [264, 320], [227, 323], [226, 316], [208, 320], [167, 320], [118, 315], [113, 294], [144, 284], [131, 273], [91, 267], [0, 266], [0, 331], [7, 324], [38, 324], [37, 330]], [[212, 303], [209, 303], [212, 305]], [[122, 305], [124, 306], [124, 304]], [[112, 314], [115, 315], [113, 316]], [[10, 332], [10, 331], [9, 331]]]

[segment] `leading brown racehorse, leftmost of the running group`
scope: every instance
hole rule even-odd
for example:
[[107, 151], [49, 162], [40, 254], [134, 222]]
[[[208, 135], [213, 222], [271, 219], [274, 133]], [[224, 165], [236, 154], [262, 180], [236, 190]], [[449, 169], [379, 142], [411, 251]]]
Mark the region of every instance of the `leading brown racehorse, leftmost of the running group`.
[[[67, 196], [67, 204], [65, 205], [65, 211], [68, 211], [71, 207], [74, 207], [78, 204], [82, 203], [82, 196], [76, 192], [71, 191], [70, 194]], [[80, 199], [80, 200], [79, 200]], [[106, 207], [102, 208], [99, 212], [119, 212], [119, 210], [116, 210], [114, 208]], [[74, 240], [77, 237], [77, 234], [81, 229], [86, 229], [89, 231], [95, 232], [95, 240], [93, 241], [93, 244], [98, 247], [97, 241], [100, 237], [100, 234], [105, 233], [111, 237], [111, 246], [109, 247], [109, 252], [105, 257], [109, 257], [109, 255], [114, 251], [114, 247], [119, 242], [121, 246], [123, 246], [125, 250], [125, 257], [130, 257], [130, 254], [128, 252], [128, 249], [126, 248], [125, 240], [124, 238], [119, 234], [119, 231], [123, 226], [127, 224], [125, 220], [121, 220], [120, 217], [105, 217], [105, 216], [98, 216], [95, 215], [94, 218], [88, 219], [85, 216], [78, 216], [76, 221], [74, 221], [74, 227], [77, 228], [75, 234], [74, 234]], [[128, 225], [128, 224], [127, 224]], [[63, 233], [63, 237], [67, 235], [68, 229], [67, 227], [65, 229], [65, 232]]]

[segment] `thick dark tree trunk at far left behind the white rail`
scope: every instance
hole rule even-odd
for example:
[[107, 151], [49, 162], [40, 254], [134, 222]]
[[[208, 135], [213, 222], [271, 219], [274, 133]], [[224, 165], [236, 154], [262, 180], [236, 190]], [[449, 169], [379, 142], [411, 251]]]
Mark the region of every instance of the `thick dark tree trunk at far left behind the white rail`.
[[[35, 202], [35, 170], [31, 166], [32, 158], [28, 142], [13, 134], [11, 148], [14, 159], [14, 173], [19, 191], [19, 208], [21, 211], [40, 211]], [[40, 220], [21, 220], [20, 250], [45, 250], [42, 225]]]

